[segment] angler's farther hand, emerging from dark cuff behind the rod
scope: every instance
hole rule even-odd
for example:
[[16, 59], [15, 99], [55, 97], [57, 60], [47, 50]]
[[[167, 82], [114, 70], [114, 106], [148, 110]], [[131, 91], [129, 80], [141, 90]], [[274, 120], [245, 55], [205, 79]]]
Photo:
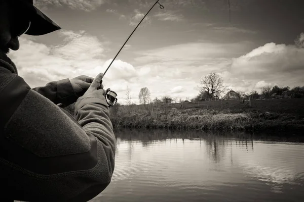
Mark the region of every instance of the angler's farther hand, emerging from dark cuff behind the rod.
[[82, 75], [70, 79], [70, 82], [72, 84], [73, 90], [77, 96], [80, 97], [88, 90], [93, 80], [94, 78], [92, 77]]

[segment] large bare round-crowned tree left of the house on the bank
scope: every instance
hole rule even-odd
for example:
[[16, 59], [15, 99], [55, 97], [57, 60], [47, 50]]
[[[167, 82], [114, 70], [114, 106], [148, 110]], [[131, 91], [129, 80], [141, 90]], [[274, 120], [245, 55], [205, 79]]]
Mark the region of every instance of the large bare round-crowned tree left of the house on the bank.
[[198, 88], [200, 93], [207, 94], [209, 100], [212, 97], [216, 97], [221, 93], [224, 93], [227, 89], [227, 87], [224, 86], [223, 79], [217, 73], [210, 73], [202, 77]]

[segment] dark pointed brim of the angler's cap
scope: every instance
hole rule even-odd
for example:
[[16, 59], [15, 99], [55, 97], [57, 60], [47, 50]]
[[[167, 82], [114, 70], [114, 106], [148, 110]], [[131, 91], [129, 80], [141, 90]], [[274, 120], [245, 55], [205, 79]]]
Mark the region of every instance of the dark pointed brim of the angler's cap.
[[20, 6], [24, 6], [21, 8], [29, 16], [31, 24], [25, 34], [39, 36], [61, 29], [59, 25], [33, 5], [33, 0], [17, 0], [14, 2], [19, 2]]

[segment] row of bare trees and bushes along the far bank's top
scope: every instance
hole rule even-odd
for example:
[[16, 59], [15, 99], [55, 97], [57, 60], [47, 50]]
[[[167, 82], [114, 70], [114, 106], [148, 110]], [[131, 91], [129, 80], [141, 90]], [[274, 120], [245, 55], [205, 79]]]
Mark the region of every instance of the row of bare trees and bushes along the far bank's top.
[[[208, 75], [201, 77], [200, 83], [197, 86], [199, 91], [198, 95], [191, 99], [192, 102], [198, 102], [202, 100], [212, 100], [212, 99], [222, 99], [223, 95], [229, 91], [229, 86], [224, 84], [223, 78], [218, 74], [211, 72]], [[162, 97], [155, 97], [153, 100], [150, 97], [151, 93], [147, 87], [140, 89], [138, 93], [138, 99], [140, 104], [157, 104], [157, 103], [176, 103], [183, 102], [177, 97], [172, 97], [170, 95], [164, 95]], [[260, 91], [253, 90], [251, 92], [235, 91], [235, 95], [238, 99], [260, 99], [260, 98], [302, 98], [304, 97], [304, 86], [296, 86], [290, 88], [289, 86], [279, 87], [279, 86], [263, 86]], [[186, 99], [187, 100], [187, 99]], [[185, 101], [186, 101], [185, 100]], [[127, 88], [125, 101], [127, 105], [135, 105], [132, 102], [132, 97], [130, 95], [129, 87]]]

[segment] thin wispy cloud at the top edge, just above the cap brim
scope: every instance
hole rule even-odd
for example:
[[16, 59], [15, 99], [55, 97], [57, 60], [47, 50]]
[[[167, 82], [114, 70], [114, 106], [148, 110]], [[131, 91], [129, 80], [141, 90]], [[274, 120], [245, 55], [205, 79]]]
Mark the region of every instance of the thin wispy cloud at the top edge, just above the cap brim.
[[68, 6], [71, 9], [93, 11], [102, 4], [104, 0], [34, 0], [34, 5], [40, 9], [47, 9], [49, 5], [62, 7]]

